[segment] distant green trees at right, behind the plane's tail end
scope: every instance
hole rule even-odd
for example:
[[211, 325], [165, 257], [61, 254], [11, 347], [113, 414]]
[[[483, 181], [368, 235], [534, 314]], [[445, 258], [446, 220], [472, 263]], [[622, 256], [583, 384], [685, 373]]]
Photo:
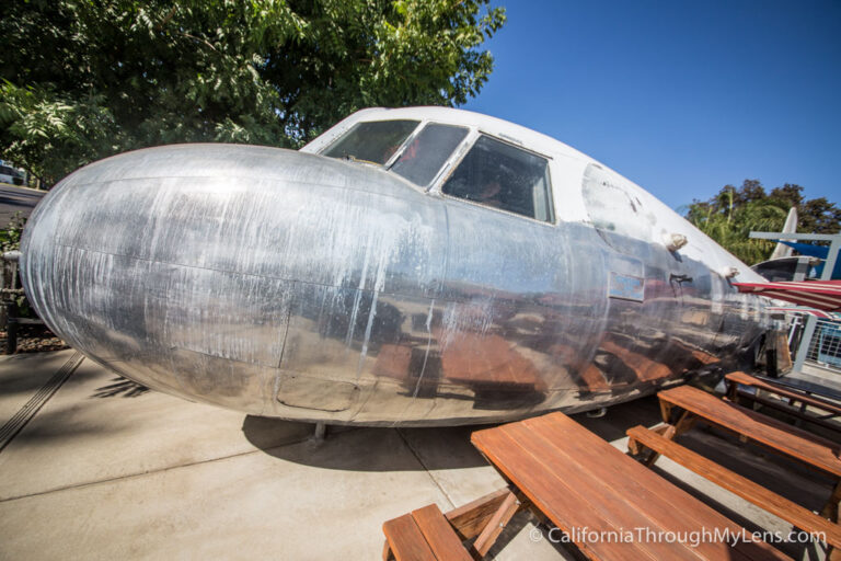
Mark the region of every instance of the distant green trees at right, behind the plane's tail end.
[[758, 180], [745, 180], [738, 188], [725, 185], [713, 198], [694, 201], [686, 216], [724, 249], [754, 264], [769, 259], [776, 242], [751, 239], [750, 232], [779, 232], [793, 206], [798, 232], [841, 231], [841, 208], [826, 197], [806, 199], [803, 187], [791, 183], [767, 193]]

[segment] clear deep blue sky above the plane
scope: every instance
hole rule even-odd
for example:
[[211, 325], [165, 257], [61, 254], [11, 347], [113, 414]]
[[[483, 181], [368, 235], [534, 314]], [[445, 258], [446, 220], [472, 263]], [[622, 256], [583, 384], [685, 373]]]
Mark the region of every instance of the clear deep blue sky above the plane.
[[841, 205], [841, 1], [496, 1], [463, 108], [577, 148], [672, 208], [758, 179]]

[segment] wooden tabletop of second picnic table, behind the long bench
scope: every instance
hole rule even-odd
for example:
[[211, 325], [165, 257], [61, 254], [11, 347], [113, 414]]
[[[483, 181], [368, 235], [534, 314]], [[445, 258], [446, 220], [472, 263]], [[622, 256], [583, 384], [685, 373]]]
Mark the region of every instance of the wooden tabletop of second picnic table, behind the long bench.
[[[841, 477], [838, 444], [787, 425], [736, 403], [723, 401], [691, 386], [678, 386], [657, 394], [660, 402], [677, 405], [706, 421], [747, 436], [809, 466]], [[664, 419], [667, 423], [668, 419]]]

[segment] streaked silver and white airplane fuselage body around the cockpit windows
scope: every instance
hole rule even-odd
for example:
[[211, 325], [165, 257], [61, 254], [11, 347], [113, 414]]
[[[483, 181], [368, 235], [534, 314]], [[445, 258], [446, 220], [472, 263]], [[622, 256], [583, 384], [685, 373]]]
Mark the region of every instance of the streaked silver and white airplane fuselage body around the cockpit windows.
[[[360, 119], [406, 117], [471, 126], [428, 190], [313, 153]], [[555, 224], [441, 195], [480, 133], [552, 160]], [[255, 415], [497, 422], [733, 366], [770, 321], [718, 272], [752, 273], [642, 190], [646, 239], [594, 228], [588, 173], [613, 174], [516, 125], [429, 107], [360, 112], [297, 152], [138, 150], [44, 197], [24, 232], [23, 282], [91, 359]], [[669, 251], [663, 234], [678, 230], [690, 244]]]

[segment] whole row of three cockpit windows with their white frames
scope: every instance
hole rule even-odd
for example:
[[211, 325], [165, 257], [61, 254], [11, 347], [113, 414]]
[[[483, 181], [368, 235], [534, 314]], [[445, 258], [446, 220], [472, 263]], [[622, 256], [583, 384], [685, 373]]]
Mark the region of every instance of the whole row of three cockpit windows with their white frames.
[[546, 158], [465, 126], [414, 119], [362, 122], [322, 154], [385, 168], [446, 196], [554, 221]]

